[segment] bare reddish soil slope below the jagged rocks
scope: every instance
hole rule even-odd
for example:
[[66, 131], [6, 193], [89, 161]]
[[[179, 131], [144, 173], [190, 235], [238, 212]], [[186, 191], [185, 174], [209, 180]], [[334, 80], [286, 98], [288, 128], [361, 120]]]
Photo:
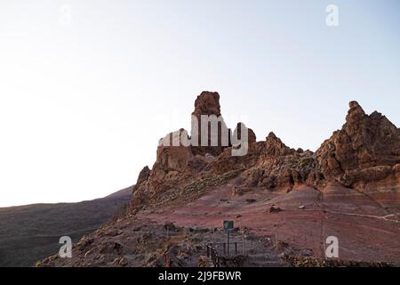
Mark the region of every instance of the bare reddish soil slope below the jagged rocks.
[[[300, 186], [290, 192], [252, 188], [234, 194], [235, 180], [187, 205], [140, 212], [157, 223], [221, 227], [231, 219], [260, 236], [324, 256], [324, 240], [339, 239], [340, 259], [400, 263], [400, 193], [367, 195], [339, 185], [324, 191]], [[272, 205], [283, 211], [270, 213]]]

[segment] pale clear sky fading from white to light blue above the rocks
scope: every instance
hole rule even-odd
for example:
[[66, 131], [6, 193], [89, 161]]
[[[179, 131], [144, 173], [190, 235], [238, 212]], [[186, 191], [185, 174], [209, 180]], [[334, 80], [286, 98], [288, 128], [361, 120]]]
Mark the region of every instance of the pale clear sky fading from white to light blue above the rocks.
[[0, 207], [132, 185], [203, 90], [294, 148], [352, 100], [400, 126], [399, 35], [397, 0], [1, 1]]

